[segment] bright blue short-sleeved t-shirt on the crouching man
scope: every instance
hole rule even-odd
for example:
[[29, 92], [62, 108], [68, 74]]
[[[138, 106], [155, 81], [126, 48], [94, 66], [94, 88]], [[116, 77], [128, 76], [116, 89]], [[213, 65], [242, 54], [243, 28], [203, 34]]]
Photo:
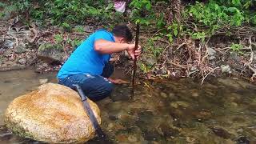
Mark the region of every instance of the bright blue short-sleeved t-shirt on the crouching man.
[[98, 39], [114, 42], [114, 36], [106, 30], [98, 30], [70, 55], [70, 58], [59, 70], [57, 77], [66, 78], [73, 74], [102, 74], [102, 70], [110, 60], [110, 54], [100, 54], [94, 50], [94, 42]]

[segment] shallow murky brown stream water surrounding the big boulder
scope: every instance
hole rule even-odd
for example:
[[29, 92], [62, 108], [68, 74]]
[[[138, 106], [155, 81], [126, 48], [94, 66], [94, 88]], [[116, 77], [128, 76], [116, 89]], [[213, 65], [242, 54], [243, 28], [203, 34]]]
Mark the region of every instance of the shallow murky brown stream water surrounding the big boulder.
[[[0, 117], [18, 95], [54, 82], [54, 74], [33, 71], [2, 73]], [[22, 75], [22, 76], [21, 76]], [[232, 78], [215, 78], [200, 85], [190, 79], [143, 81], [134, 101], [130, 87], [116, 86], [98, 103], [107, 139], [87, 143], [253, 143], [256, 142], [256, 86]], [[0, 121], [0, 125], [2, 125]], [[41, 143], [18, 138], [0, 127], [0, 143]]]

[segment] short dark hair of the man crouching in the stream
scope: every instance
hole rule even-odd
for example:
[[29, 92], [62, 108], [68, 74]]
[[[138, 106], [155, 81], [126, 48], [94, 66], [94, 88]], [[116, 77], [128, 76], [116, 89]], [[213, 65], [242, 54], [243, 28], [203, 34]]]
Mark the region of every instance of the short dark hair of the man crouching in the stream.
[[123, 26], [123, 25], [114, 26], [112, 33], [116, 37], [125, 38], [127, 42], [131, 42], [133, 40], [133, 34], [130, 32], [130, 29], [128, 28], [128, 26]]

